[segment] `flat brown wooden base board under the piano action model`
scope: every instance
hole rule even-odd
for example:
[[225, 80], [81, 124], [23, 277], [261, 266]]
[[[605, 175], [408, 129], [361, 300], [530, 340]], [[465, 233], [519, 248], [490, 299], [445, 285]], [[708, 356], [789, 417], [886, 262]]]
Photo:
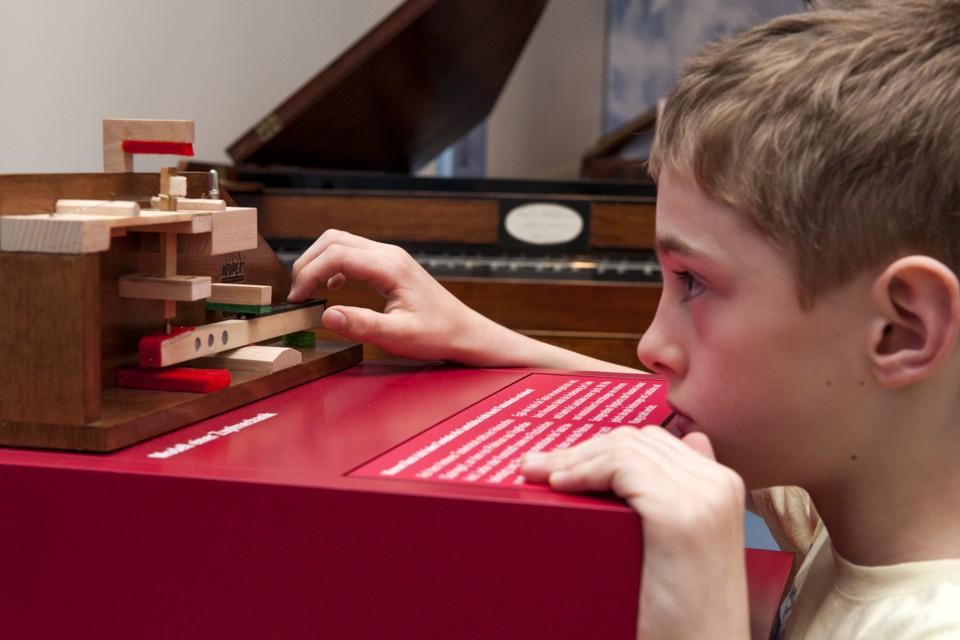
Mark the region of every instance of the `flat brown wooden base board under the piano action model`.
[[0, 445], [115, 451], [346, 369], [363, 359], [362, 346], [353, 343], [318, 342], [300, 351], [303, 362], [299, 365], [276, 373], [233, 372], [229, 388], [209, 394], [108, 389], [101, 398], [100, 419], [84, 425], [0, 422]]

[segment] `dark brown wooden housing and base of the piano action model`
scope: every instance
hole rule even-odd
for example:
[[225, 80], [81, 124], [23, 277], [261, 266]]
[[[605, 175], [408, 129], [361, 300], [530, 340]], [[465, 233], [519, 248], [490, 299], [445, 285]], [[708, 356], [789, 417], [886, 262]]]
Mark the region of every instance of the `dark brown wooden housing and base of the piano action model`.
[[[208, 187], [205, 174], [185, 174], [188, 193]], [[157, 174], [104, 173], [0, 176], [0, 215], [52, 212], [63, 198], [129, 200], [150, 208]], [[255, 231], [255, 230], [254, 230]], [[343, 369], [361, 358], [359, 345], [318, 343], [303, 362], [275, 373], [232, 372], [229, 387], [207, 394], [121, 389], [120, 369], [138, 362], [138, 342], [162, 330], [165, 301], [122, 298], [120, 276], [153, 273], [158, 233], [149, 228], [109, 238], [105, 251], [0, 252], [0, 444], [111, 451]], [[259, 235], [255, 248], [212, 254], [212, 232], [192, 236], [180, 273], [223, 273], [271, 285], [275, 300], [289, 273]], [[178, 236], [181, 240], [184, 236]], [[183, 249], [183, 242], [180, 243]], [[179, 302], [175, 326], [219, 320], [204, 302]]]

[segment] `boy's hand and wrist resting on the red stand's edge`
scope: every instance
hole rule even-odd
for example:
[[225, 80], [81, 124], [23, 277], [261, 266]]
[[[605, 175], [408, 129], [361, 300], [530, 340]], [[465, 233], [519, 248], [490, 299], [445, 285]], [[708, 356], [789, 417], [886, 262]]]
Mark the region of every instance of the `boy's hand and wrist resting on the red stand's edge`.
[[613, 491], [643, 519], [638, 638], [749, 636], [745, 489], [704, 434], [621, 427], [528, 454], [521, 471], [560, 491]]

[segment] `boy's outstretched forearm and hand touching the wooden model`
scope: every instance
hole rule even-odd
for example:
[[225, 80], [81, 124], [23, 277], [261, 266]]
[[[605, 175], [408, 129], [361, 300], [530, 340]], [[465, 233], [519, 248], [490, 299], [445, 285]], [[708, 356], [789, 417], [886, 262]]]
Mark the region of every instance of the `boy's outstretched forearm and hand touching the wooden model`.
[[326, 231], [294, 263], [289, 299], [304, 300], [321, 284], [336, 290], [347, 279], [365, 282], [386, 298], [383, 313], [327, 309], [324, 327], [348, 340], [407, 358], [480, 367], [631, 371], [511, 331], [463, 304], [406, 251], [344, 231]]

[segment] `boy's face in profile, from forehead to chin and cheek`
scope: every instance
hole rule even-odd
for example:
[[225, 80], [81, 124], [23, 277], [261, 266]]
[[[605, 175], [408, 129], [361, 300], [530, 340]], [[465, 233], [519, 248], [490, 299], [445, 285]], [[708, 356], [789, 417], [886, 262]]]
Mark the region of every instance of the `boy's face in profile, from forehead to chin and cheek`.
[[637, 353], [670, 380], [670, 428], [707, 434], [750, 488], [836, 478], [868, 435], [869, 278], [802, 309], [788, 254], [666, 169], [656, 232], [663, 294]]

